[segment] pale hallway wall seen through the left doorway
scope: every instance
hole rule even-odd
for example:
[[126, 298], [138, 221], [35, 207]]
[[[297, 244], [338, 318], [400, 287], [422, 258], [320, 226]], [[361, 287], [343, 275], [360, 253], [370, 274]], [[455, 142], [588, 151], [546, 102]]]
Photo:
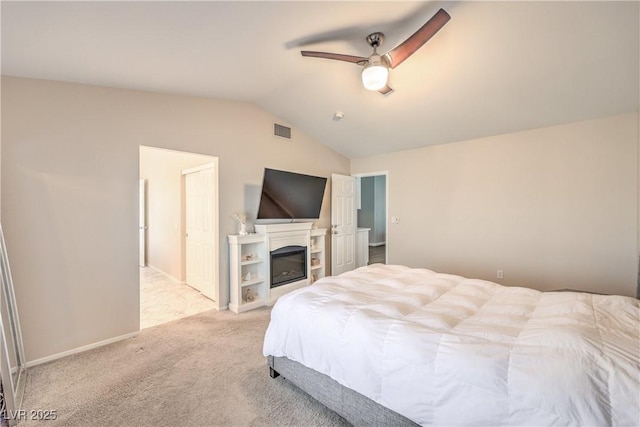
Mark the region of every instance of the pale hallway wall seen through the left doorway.
[[215, 157], [140, 147], [140, 179], [147, 186], [147, 265], [184, 282], [182, 171]]

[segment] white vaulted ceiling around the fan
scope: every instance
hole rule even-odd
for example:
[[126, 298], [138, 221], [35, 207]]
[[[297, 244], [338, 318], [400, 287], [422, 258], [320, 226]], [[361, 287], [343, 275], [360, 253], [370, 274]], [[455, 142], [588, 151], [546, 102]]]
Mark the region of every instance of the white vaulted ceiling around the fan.
[[[636, 111], [640, 3], [2, 2], [2, 74], [247, 101], [350, 157]], [[451, 20], [392, 70], [301, 49], [386, 52]], [[334, 112], [344, 112], [341, 122]]]

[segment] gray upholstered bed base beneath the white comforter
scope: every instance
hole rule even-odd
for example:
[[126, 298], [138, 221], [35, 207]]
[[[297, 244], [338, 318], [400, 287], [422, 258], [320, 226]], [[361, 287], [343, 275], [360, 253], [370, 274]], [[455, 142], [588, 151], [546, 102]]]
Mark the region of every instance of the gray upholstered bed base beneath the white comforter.
[[287, 359], [268, 356], [269, 374], [282, 375], [354, 426], [417, 426], [416, 423], [313, 369]]

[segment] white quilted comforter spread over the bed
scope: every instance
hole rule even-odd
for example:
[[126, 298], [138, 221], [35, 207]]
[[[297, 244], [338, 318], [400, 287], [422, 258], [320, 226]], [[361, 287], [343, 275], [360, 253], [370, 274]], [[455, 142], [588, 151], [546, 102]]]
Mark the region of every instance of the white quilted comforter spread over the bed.
[[423, 425], [640, 425], [640, 302], [373, 265], [280, 297], [264, 355]]

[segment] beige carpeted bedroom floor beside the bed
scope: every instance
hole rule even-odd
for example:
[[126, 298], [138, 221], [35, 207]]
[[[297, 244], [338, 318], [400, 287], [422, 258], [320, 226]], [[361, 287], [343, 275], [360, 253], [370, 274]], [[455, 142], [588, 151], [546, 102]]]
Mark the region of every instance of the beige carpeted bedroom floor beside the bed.
[[262, 341], [269, 309], [210, 311], [28, 371], [20, 426], [347, 426], [281, 377]]

